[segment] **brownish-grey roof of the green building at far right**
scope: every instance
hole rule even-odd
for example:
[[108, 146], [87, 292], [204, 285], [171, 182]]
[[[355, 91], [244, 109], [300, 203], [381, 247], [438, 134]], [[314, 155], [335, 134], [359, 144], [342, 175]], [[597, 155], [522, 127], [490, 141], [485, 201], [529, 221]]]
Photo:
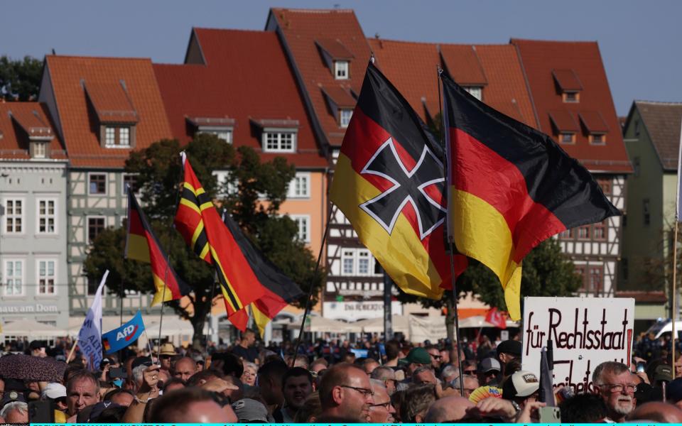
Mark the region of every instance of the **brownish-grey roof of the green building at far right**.
[[[682, 102], [634, 101], [664, 170], [677, 170]], [[632, 115], [632, 111], [630, 113]], [[629, 122], [629, 117], [628, 117]]]

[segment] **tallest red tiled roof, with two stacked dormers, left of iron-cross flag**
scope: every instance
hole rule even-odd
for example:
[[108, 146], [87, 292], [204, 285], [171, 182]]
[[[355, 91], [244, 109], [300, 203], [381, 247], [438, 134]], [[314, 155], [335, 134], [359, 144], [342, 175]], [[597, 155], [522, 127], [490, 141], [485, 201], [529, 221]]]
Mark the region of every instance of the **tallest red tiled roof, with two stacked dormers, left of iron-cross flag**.
[[[303, 91], [313, 107], [311, 112], [316, 116], [328, 143], [340, 146], [345, 129], [340, 127], [338, 117], [333, 116], [327, 107], [319, 84], [323, 87], [342, 84], [355, 93], [360, 92], [370, 52], [355, 13], [343, 9], [271, 9], [270, 13], [281, 29], [286, 48], [291, 52], [291, 62], [301, 75]], [[316, 43], [320, 39], [338, 40], [353, 56], [348, 80], [335, 80], [333, 70], [325, 64]]]

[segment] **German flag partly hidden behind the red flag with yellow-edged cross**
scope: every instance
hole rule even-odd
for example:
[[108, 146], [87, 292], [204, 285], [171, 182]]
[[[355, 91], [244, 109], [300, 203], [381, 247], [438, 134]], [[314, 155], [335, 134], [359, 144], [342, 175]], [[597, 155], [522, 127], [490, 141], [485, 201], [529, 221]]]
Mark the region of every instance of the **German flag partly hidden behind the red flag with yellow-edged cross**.
[[223, 212], [223, 222], [232, 234], [234, 241], [237, 242], [239, 249], [242, 250], [242, 254], [247, 259], [256, 278], [264, 287], [264, 295], [251, 303], [251, 314], [254, 316], [262, 337], [268, 322], [286, 305], [301, 297], [303, 292], [291, 278], [284, 275], [274, 263], [269, 261], [263, 253], [251, 244], [251, 241], [244, 235], [242, 229], [239, 229], [237, 223], [234, 222], [227, 212]]

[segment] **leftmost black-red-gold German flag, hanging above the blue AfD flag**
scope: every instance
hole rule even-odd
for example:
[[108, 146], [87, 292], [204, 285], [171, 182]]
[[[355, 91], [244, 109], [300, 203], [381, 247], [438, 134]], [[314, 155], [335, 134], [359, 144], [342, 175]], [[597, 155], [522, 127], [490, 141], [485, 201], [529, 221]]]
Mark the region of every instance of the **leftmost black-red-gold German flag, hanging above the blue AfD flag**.
[[158, 244], [158, 239], [131, 190], [128, 190], [128, 235], [125, 256], [136, 261], [151, 263], [151, 273], [156, 288], [151, 302], [152, 306], [159, 302], [180, 299], [192, 291], [168, 265], [168, 256], [161, 249], [161, 244]]

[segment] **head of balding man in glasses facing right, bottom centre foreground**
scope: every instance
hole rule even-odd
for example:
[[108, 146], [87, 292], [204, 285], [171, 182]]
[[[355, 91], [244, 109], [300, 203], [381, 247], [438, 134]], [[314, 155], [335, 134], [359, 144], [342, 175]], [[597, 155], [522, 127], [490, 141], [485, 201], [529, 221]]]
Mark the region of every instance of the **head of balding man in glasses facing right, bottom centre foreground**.
[[341, 363], [329, 368], [320, 383], [322, 414], [318, 422], [367, 422], [373, 394], [369, 377], [359, 366]]

